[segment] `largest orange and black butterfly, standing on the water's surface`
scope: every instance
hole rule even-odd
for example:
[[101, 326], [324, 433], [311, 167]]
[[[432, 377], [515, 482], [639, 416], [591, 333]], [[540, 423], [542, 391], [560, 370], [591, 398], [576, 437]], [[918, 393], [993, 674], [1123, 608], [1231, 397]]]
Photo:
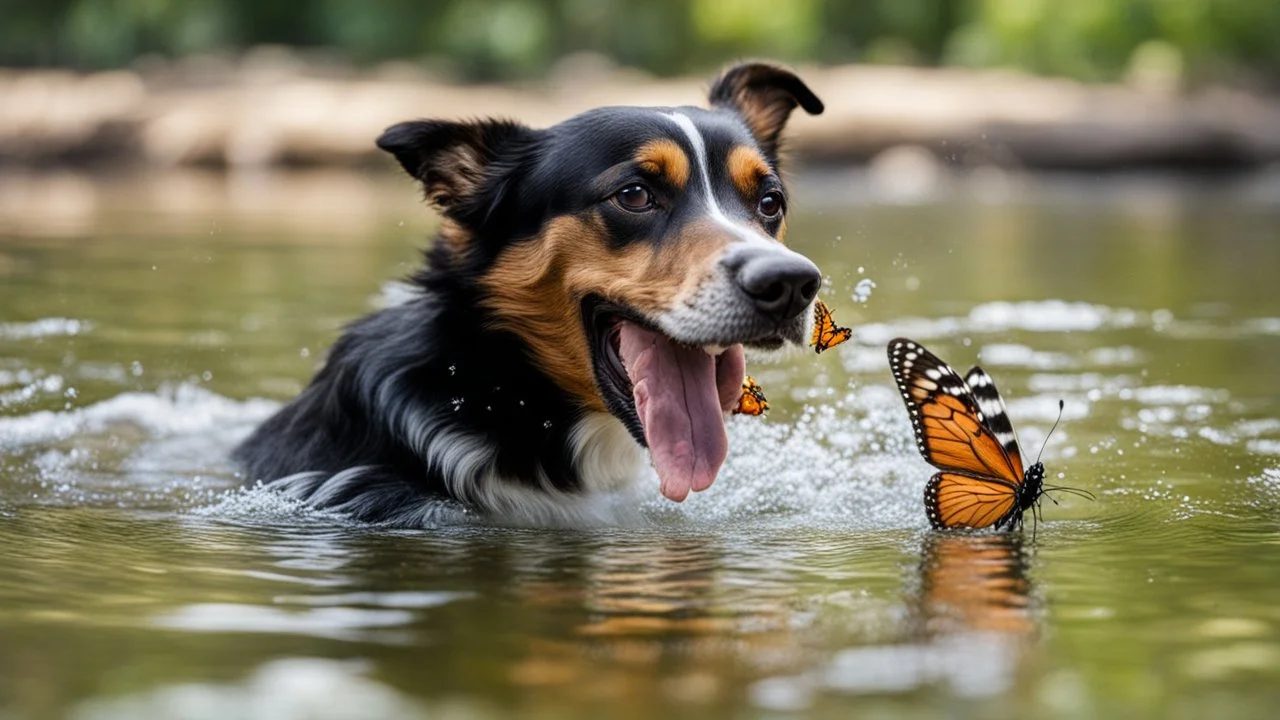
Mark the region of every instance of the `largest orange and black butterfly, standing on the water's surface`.
[[[1046, 491], [1093, 497], [1046, 486], [1044, 464], [1038, 459], [1023, 470], [1005, 401], [982, 368], [974, 366], [961, 379], [937, 355], [901, 337], [888, 343], [888, 364], [911, 415], [920, 455], [942, 470], [924, 487], [924, 510], [933, 528], [1015, 529], [1023, 527], [1027, 510], [1036, 518]], [[1061, 418], [1062, 401], [1057, 407]]]

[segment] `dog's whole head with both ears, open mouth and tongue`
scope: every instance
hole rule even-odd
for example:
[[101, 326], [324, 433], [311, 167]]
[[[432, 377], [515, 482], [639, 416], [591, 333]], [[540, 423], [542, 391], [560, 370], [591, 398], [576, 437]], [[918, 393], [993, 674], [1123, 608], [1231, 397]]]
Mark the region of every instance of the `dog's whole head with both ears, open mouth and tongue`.
[[673, 500], [723, 462], [742, 347], [803, 345], [822, 284], [782, 243], [777, 158], [791, 111], [822, 102], [764, 64], [731, 68], [710, 99], [544, 131], [402, 123], [379, 140], [445, 214], [434, 270], [474, 287], [490, 327], [646, 445]]

